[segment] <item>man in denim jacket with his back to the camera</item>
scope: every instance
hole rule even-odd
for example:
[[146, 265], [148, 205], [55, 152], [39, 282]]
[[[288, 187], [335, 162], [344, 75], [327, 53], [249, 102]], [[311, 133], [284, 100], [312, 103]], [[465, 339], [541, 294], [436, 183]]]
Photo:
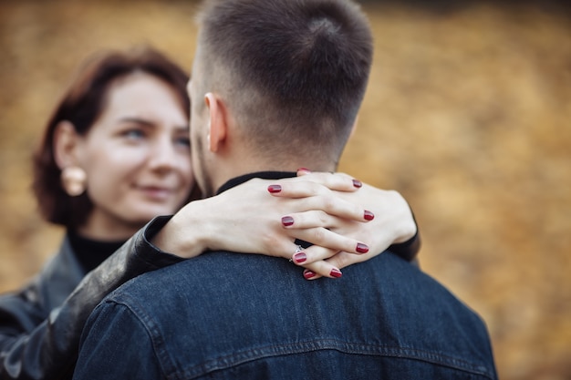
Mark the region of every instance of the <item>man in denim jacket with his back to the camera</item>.
[[[217, 0], [200, 20], [189, 90], [202, 190], [335, 170], [372, 59], [358, 6]], [[163, 250], [181, 248], [176, 224], [154, 237]], [[89, 318], [74, 378], [496, 377], [480, 318], [392, 253], [335, 281], [306, 282], [296, 269], [210, 252], [140, 276]]]

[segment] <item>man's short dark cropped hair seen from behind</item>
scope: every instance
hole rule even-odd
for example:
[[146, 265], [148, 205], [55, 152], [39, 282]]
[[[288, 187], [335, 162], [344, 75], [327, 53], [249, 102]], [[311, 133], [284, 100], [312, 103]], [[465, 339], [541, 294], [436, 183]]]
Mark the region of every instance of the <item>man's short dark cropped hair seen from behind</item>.
[[258, 149], [270, 141], [291, 142], [327, 147], [328, 155], [333, 148], [338, 159], [373, 54], [369, 22], [357, 4], [212, 0], [203, 3], [198, 21], [199, 48], [213, 69], [202, 73], [210, 76], [209, 89], [224, 93], [224, 82], [234, 83], [225, 95], [231, 94], [234, 115], [247, 124]]

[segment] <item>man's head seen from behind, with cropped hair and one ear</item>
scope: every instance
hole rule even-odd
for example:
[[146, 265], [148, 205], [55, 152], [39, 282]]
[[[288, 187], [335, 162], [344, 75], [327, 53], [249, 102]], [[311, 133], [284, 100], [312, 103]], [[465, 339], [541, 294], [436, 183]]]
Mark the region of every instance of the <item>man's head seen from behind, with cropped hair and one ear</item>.
[[372, 60], [358, 5], [207, 0], [199, 21], [191, 122], [205, 192], [258, 169], [335, 169]]

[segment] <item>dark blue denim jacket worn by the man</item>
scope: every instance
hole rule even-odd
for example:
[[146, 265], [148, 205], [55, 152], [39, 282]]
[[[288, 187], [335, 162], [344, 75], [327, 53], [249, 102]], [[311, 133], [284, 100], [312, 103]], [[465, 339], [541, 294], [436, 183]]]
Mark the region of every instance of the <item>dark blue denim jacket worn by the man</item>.
[[207, 252], [141, 275], [90, 315], [74, 379], [497, 377], [482, 319], [393, 253], [336, 280], [299, 271]]

